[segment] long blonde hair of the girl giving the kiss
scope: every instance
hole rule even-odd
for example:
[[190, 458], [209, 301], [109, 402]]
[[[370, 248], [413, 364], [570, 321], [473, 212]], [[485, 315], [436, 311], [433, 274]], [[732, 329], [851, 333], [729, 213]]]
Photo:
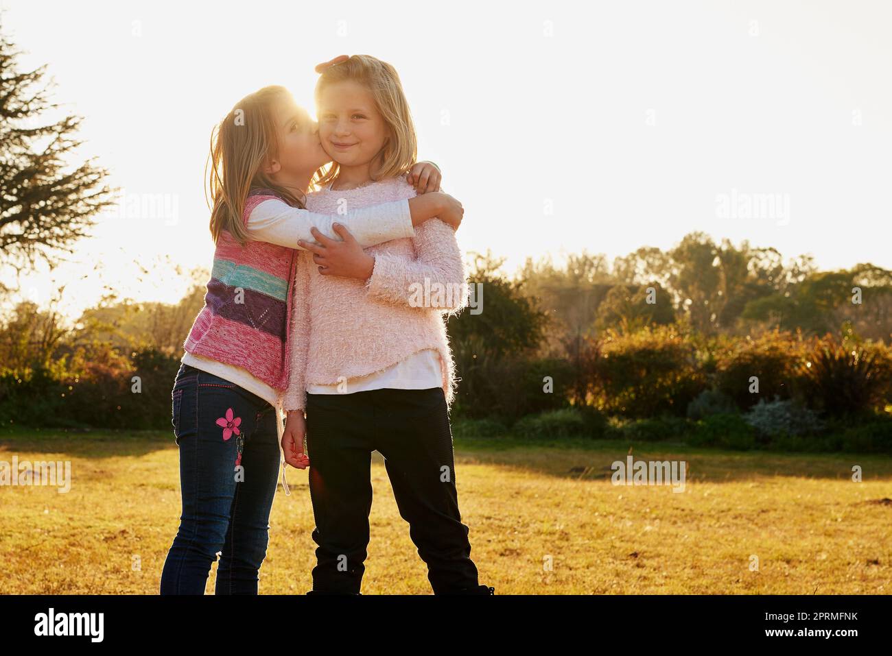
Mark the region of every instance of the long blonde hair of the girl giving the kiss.
[[244, 96], [211, 130], [211, 152], [204, 167], [205, 200], [210, 190], [211, 236], [216, 243], [225, 230], [243, 246], [250, 239], [242, 214], [248, 193], [266, 188], [285, 202], [303, 209], [304, 200], [263, 172], [263, 165], [278, 155], [278, 130], [273, 107], [293, 102], [284, 86], [264, 86]]

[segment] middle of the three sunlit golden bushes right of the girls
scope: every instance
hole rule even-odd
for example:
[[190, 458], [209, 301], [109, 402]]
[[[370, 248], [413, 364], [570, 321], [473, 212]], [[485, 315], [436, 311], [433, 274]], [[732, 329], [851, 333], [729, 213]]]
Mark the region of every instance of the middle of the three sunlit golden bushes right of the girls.
[[[799, 382], [803, 345], [787, 332], [768, 332], [734, 342], [716, 365], [716, 387], [741, 410], [760, 398], [791, 398]], [[750, 377], [758, 378], [758, 394], [750, 392]]]

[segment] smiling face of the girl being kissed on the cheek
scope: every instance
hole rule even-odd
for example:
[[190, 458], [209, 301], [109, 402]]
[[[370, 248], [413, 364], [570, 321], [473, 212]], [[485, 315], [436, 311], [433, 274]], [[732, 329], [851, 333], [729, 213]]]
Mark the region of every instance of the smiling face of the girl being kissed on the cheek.
[[384, 148], [390, 130], [372, 94], [358, 82], [325, 86], [318, 110], [322, 147], [341, 166], [368, 164]]

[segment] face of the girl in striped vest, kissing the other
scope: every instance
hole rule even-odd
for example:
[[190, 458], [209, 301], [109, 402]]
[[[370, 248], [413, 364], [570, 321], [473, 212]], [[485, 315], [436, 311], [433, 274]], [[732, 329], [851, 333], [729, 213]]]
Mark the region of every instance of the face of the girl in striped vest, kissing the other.
[[318, 124], [292, 101], [277, 103], [274, 118], [278, 130], [278, 154], [268, 173], [287, 181], [309, 180], [317, 168], [331, 161], [319, 142]]

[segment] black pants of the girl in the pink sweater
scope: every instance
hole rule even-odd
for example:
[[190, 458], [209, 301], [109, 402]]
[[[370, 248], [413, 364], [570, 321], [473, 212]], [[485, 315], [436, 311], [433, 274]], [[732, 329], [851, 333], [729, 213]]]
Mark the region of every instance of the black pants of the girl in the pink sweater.
[[409, 537], [434, 594], [477, 586], [455, 487], [443, 390], [370, 389], [307, 395], [316, 593], [359, 593], [372, 507], [372, 451], [384, 455]]

